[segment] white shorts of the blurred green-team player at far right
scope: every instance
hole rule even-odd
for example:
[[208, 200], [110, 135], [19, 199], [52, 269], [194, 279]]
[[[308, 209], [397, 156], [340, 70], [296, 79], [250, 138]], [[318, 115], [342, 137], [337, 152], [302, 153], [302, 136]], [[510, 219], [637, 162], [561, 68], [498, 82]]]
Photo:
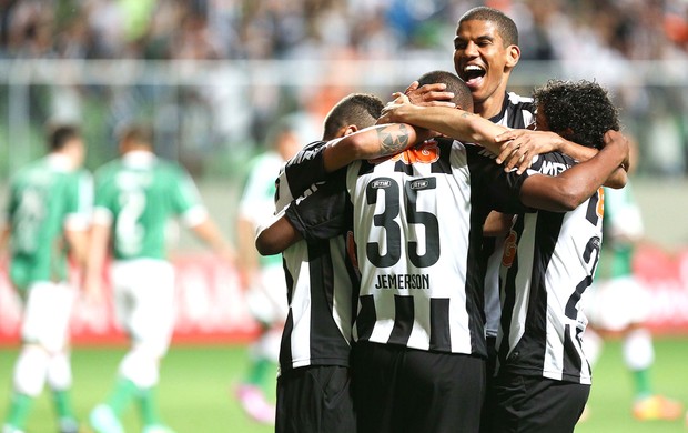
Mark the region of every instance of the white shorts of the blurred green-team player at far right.
[[650, 294], [634, 276], [595, 281], [584, 295], [584, 312], [591, 326], [624, 331], [630, 324], [647, 321]]

